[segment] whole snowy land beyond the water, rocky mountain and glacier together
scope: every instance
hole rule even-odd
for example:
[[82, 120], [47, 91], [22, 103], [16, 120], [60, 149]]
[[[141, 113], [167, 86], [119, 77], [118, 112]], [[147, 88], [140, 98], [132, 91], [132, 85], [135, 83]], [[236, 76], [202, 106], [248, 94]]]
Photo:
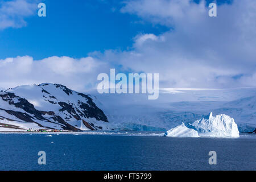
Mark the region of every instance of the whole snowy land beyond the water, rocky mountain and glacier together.
[[[92, 97], [92, 96], [96, 97]], [[17, 86], [0, 92], [0, 131], [23, 129], [167, 131], [204, 115], [226, 114], [238, 130], [256, 128], [256, 89], [182, 90], [146, 94], [75, 92], [59, 84]]]

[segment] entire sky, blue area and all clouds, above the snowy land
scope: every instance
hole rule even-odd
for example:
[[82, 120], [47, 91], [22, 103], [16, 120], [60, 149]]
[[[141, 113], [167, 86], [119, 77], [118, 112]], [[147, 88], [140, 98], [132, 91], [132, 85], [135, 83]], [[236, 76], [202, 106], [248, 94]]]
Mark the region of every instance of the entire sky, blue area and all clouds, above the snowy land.
[[256, 86], [256, 1], [217, 1], [217, 17], [210, 2], [1, 1], [0, 88], [94, 89], [110, 68], [159, 73], [162, 88]]

